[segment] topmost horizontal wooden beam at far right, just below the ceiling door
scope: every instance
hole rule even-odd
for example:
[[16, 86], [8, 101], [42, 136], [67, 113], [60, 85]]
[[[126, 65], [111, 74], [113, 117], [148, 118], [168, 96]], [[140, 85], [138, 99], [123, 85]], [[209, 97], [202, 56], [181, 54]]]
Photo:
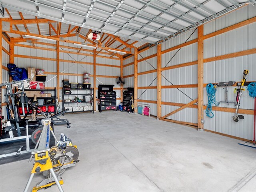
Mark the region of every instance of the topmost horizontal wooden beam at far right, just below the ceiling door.
[[242, 22], [240, 22], [240, 23], [234, 24], [234, 25], [229, 26], [229, 27], [226, 27], [226, 28], [224, 28], [224, 29], [221, 29], [221, 30], [212, 32], [212, 33], [210, 33], [210, 34], [205, 35], [203, 38], [204, 38], [204, 40], [205, 40], [205, 39], [208, 39], [208, 38], [211, 38], [211, 37], [220, 35], [220, 34], [222, 34], [222, 33], [226, 33], [226, 32], [228, 32], [228, 31], [231, 31], [231, 30], [240, 28], [240, 27], [242, 27], [242, 26], [246, 26], [246, 25], [251, 24], [251, 23], [253, 23], [253, 22], [256, 22], [256, 17], [250, 18], [250, 19], [248, 19], [248, 20], [242, 21]]

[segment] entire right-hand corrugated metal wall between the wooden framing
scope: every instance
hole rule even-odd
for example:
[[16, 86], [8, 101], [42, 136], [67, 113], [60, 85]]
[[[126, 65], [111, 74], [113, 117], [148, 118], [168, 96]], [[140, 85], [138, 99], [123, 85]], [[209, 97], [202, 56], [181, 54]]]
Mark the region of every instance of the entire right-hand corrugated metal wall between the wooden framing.
[[[204, 24], [204, 35], [217, 30], [226, 28], [238, 22], [248, 20], [256, 16], [256, 6], [248, 5], [240, 8], [226, 16], [222, 16], [212, 22]], [[193, 34], [192, 34], [193, 33]], [[197, 38], [197, 30], [190, 30], [176, 38], [172, 38], [162, 43], [162, 50], [172, 48], [179, 44]], [[237, 28], [230, 32], [220, 34], [218, 36], [204, 40], [204, 58], [225, 55], [229, 53], [239, 52], [256, 48], [256, 23]], [[189, 39], [188, 39], [189, 38]], [[156, 46], [146, 50], [138, 55], [138, 60], [142, 57], [150, 56], [156, 53]], [[192, 62], [197, 60], [197, 43], [176, 49], [174, 51], [162, 54], [162, 68], [173, 66], [177, 64]], [[124, 60], [124, 64], [133, 62], [134, 58]], [[240, 56], [216, 62], [209, 62], [204, 64], [204, 83], [215, 83], [224, 81], [240, 81], [244, 69], [249, 70], [248, 81], [256, 80], [256, 54], [248, 56]], [[151, 66], [152, 65], [152, 66]], [[138, 63], [138, 72], [145, 72], [154, 70], [156, 68], [156, 57], [150, 58], [146, 61]], [[124, 68], [124, 76], [134, 73], [134, 65]], [[138, 76], [138, 87], [149, 86], [149, 84], [156, 77], [156, 73], [150, 73]], [[126, 85], [133, 87], [134, 78], [126, 78]], [[162, 71], [162, 86], [168, 85], [183, 85], [183, 84], [197, 84], [197, 65], [175, 68]], [[156, 80], [150, 85], [156, 86]], [[234, 87], [228, 88], [228, 100], [234, 101], [235, 94]], [[141, 100], [156, 101], [156, 89], [138, 90], [138, 97]], [[142, 94], [142, 95], [141, 95]], [[197, 88], [168, 88], [162, 89], [162, 102], [175, 102], [186, 104], [197, 98]], [[218, 88], [216, 92], [216, 99], [218, 101], [224, 100], [224, 90]], [[204, 89], [204, 104], [207, 105], [208, 99], [206, 90]], [[240, 108], [253, 109], [254, 100], [248, 96], [248, 92], [244, 92]], [[156, 115], [156, 104], [151, 105], [151, 114]], [[234, 108], [233, 104], [227, 106], [220, 104], [222, 107]], [[162, 105], [162, 116], [179, 108], [178, 106]], [[245, 119], [235, 123], [232, 120], [233, 113], [214, 111], [214, 118], [205, 116], [204, 128], [221, 132], [224, 134], [237, 136], [246, 139], [252, 139], [253, 116], [244, 115]], [[197, 123], [197, 109], [185, 108], [168, 118], [184, 122]]]

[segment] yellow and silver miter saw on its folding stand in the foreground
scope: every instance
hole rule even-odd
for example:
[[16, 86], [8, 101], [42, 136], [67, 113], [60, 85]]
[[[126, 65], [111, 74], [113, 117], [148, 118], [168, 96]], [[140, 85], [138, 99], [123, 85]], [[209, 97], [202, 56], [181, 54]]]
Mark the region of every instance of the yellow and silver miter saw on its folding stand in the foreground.
[[[48, 188], [53, 184], [56, 184], [60, 192], [63, 192], [61, 187], [63, 180], [60, 175], [63, 174], [66, 168], [75, 166], [76, 163], [79, 162], [79, 152], [77, 147], [72, 145], [72, 141], [63, 133], [61, 134], [60, 141], [56, 139], [56, 136], [50, 126], [51, 119], [42, 119], [42, 124], [44, 125], [42, 133], [40, 134], [40, 138], [34, 151], [31, 153], [32, 156], [35, 157], [34, 166], [24, 192], [28, 191], [35, 173], [42, 173], [46, 176], [46, 179], [37, 183], [32, 192], [36, 192], [42, 188]], [[56, 146], [51, 148], [49, 146], [50, 132], [57, 143]]]

